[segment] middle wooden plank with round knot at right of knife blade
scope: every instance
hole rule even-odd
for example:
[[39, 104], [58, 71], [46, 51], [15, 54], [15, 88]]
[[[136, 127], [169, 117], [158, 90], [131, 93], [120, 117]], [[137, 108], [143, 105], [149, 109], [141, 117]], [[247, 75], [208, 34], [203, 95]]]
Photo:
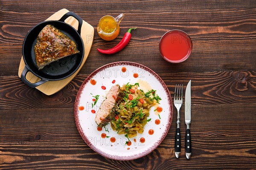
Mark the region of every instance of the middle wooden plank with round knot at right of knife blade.
[[[29, 88], [17, 76], [2, 77], [0, 93], [3, 94], [1, 101], [3, 105], [0, 107], [3, 109], [73, 108], [77, 91], [87, 76], [77, 75], [64, 89], [51, 96]], [[185, 88], [186, 82], [192, 79], [192, 104], [256, 103], [256, 71], [172, 73], [159, 74], [159, 76], [166, 83], [172, 96], [175, 82], [183, 83]]]

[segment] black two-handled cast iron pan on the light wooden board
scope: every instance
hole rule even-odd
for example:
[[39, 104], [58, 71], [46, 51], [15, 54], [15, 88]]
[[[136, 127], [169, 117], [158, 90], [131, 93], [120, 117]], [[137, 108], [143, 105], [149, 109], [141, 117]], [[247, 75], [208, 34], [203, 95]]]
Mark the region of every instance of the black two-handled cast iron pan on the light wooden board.
[[[70, 16], [78, 20], [78, 30], [64, 22], [64, 20], [66, 20]], [[39, 23], [29, 31], [29, 33], [25, 37], [22, 47], [25, 68], [23, 69], [20, 77], [26, 85], [35, 88], [38, 85], [43, 84], [44, 82], [57, 81], [70, 77], [77, 71], [84, 58], [84, 43], [80, 36], [82, 23], [83, 20], [77, 14], [73, 12], [67, 12], [67, 14], [61, 17], [60, 20], [44, 21], [42, 23]], [[47, 26], [48, 24], [55, 26], [61, 32], [70, 37], [76, 43], [77, 49], [80, 51], [80, 53], [64, 57], [63, 59], [52, 62], [49, 65], [44, 66], [43, 69], [38, 70], [35, 62], [34, 46], [36, 44], [39, 32], [44, 28], [44, 26]], [[26, 79], [26, 74], [29, 71], [31, 71], [35, 76], [41, 78], [41, 80], [36, 83], [29, 82]]]

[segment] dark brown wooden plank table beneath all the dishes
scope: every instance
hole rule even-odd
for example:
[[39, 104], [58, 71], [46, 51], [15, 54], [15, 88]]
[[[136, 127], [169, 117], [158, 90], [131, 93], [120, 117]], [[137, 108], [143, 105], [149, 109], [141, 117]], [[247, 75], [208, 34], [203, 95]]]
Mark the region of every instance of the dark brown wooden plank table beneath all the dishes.
[[[79, 74], [47, 96], [26, 86], [17, 73], [27, 32], [61, 8], [74, 11], [94, 28], [105, 14], [125, 13], [125, 18], [111, 42], [100, 39], [95, 29]], [[0, 169], [255, 169], [255, 0], [0, 0], [0, 26]], [[113, 47], [131, 27], [137, 30], [121, 52], [106, 56], [96, 50]], [[192, 38], [192, 55], [180, 64], [166, 62], [158, 50], [161, 36], [171, 29]], [[140, 159], [106, 159], [83, 141], [74, 119], [76, 94], [90, 73], [116, 61], [151, 68], [172, 97], [176, 83], [186, 85], [192, 79], [190, 160], [184, 142], [181, 157], [175, 158], [176, 109], [166, 138]], [[180, 128], [184, 132], [186, 126]]]

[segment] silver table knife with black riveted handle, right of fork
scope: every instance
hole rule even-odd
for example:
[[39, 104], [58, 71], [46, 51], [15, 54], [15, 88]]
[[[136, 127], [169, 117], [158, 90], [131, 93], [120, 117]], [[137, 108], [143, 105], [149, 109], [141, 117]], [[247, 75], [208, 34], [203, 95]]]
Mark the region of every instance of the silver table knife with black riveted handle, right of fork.
[[186, 123], [185, 151], [186, 151], [186, 158], [190, 159], [191, 136], [190, 136], [189, 125], [191, 123], [191, 80], [189, 80], [189, 83], [186, 86], [186, 92], [185, 92], [185, 123]]

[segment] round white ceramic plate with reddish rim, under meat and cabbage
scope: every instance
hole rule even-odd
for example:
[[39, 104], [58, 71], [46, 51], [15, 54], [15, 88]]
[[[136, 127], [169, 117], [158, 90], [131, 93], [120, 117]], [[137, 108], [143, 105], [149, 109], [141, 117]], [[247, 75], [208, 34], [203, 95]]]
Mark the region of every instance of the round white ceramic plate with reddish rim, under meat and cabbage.
[[[123, 67], [126, 68], [125, 72], [122, 72]], [[138, 74], [137, 78], [134, 78], [134, 73]], [[90, 83], [91, 79], [96, 80], [96, 85]], [[113, 80], [115, 80], [114, 83]], [[145, 92], [147, 92], [146, 88], [151, 86], [151, 89], [156, 90], [156, 94], [160, 96], [159, 106], [163, 108], [160, 113], [160, 125], [155, 124], [155, 120], [159, 119], [157, 111], [154, 111], [155, 107], [150, 109], [148, 119], [151, 119], [151, 121], [145, 125], [143, 134], [137, 133], [136, 137], [130, 139], [132, 142], [130, 146], [125, 144], [128, 139], [112, 130], [110, 124], [106, 126], [106, 130], [109, 132], [104, 128], [102, 131], [98, 131], [95, 122], [96, 114], [92, 113], [92, 110], [98, 111], [99, 106], [105, 100], [106, 94], [113, 85], [119, 84], [122, 86], [128, 82], [130, 84], [139, 82], [140, 88], [144, 88]], [[105, 86], [106, 89], [103, 90], [102, 86]], [[92, 108], [92, 99], [96, 95], [99, 95], [99, 100], [96, 106]], [[84, 110], [80, 111], [80, 106], [83, 106]], [[84, 80], [75, 102], [76, 125], [84, 141], [102, 156], [116, 160], [137, 159], [153, 151], [168, 133], [172, 122], [172, 114], [172, 98], [163, 80], [151, 69], [134, 62], [113, 62], [98, 68]], [[150, 129], [154, 130], [153, 135], [148, 134]], [[106, 133], [109, 137], [102, 138], [102, 133]], [[115, 137], [116, 142], [111, 142], [111, 137]], [[144, 143], [140, 142], [141, 137], [145, 138]], [[136, 142], [134, 139], [136, 139]]]

